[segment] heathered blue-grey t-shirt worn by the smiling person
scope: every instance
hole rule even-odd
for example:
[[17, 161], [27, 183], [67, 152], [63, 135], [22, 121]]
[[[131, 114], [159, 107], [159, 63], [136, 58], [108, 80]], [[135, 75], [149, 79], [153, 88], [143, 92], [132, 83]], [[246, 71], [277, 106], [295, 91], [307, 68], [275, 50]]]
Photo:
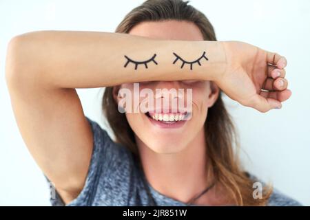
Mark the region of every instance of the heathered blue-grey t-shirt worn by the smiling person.
[[[85, 186], [76, 199], [67, 206], [150, 206], [147, 190], [157, 206], [187, 206], [166, 197], [149, 184], [143, 184], [143, 174], [134, 155], [124, 146], [116, 144], [96, 122], [87, 118], [92, 126], [94, 148]], [[63, 206], [61, 197], [50, 199], [52, 206]], [[278, 190], [273, 190], [268, 206], [301, 206]]]

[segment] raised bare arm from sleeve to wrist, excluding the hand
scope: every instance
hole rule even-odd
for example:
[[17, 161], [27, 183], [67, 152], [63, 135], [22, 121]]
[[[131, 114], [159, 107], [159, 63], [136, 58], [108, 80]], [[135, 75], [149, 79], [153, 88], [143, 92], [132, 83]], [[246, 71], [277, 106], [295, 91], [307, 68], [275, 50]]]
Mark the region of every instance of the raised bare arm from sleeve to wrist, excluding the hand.
[[[83, 188], [92, 154], [92, 132], [74, 88], [211, 79], [223, 72], [225, 56], [218, 43], [201, 43], [64, 31], [30, 32], [10, 41], [6, 79], [19, 130], [65, 202]], [[194, 61], [204, 51], [209, 61], [196, 64], [195, 74], [189, 64], [173, 64], [173, 52]]]

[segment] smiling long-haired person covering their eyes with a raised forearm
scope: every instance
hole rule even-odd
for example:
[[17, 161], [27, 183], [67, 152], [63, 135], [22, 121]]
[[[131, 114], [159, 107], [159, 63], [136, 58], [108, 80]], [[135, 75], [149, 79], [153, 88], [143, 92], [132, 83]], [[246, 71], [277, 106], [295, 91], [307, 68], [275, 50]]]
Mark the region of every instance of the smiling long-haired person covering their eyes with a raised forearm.
[[[240, 166], [222, 100], [224, 92], [262, 113], [282, 107], [291, 96], [286, 66], [277, 53], [216, 41], [211, 23], [187, 1], [148, 0], [116, 33], [15, 36], [6, 80], [23, 140], [56, 188], [54, 206], [299, 206]], [[120, 104], [136, 83], [158, 102], [189, 97], [190, 104], [136, 112]], [[94, 87], [105, 87], [114, 140], [83, 113], [76, 88]]]

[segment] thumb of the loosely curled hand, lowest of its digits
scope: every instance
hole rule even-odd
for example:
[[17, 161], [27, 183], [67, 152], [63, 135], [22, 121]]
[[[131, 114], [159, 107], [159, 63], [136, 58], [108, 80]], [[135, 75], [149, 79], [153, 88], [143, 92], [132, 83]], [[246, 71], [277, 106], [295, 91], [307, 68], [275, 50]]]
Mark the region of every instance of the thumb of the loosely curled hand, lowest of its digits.
[[254, 109], [257, 109], [260, 112], [267, 112], [271, 109], [280, 109], [282, 107], [281, 102], [274, 98], [265, 98], [263, 96], [260, 96], [259, 94], [256, 94], [253, 99], [253, 106]]

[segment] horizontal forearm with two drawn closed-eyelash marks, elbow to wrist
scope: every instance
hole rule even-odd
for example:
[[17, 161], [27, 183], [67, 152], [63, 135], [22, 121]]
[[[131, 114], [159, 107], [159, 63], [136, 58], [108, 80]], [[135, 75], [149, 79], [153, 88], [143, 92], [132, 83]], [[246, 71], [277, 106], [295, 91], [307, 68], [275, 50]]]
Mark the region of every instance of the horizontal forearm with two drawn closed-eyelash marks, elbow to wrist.
[[[106, 87], [148, 80], [214, 80], [225, 70], [216, 41], [165, 41], [107, 32], [44, 31], [17, 36], [15, 67], [52, 87]], [[202, 57], [205, 52], [205, 57]], [[185, 61], [199, 62], [192, 64]], [[147, 61], [148, 63], [132, 63]], [[174, 63], [174, 61], [176, 61]], [[183, 65], [183, 68], [181, 66]], [[45, 85], [46, 86], [46, 85]]]

